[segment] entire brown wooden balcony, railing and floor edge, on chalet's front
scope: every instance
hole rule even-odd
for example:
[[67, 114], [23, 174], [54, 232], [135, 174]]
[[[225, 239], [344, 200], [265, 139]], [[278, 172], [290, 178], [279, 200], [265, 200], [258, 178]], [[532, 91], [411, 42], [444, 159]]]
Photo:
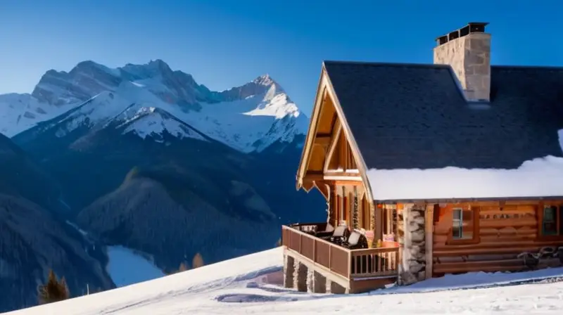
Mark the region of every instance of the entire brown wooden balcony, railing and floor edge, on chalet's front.
[[399, 248], [350, 250], [315, 236], [326, 224], [282, 226], [284, 253], [336, 281], [348, 293], [361, 293], [394, 283]]

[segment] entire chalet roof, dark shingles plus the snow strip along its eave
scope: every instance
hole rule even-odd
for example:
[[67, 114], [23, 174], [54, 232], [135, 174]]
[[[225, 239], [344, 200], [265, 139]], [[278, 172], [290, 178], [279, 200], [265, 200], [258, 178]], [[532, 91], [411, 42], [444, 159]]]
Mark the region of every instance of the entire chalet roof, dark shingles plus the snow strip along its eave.
[[324, 69], [375, 200], [563, 196], [563, 68], [492, 66], [479, 104], [449, 65]]

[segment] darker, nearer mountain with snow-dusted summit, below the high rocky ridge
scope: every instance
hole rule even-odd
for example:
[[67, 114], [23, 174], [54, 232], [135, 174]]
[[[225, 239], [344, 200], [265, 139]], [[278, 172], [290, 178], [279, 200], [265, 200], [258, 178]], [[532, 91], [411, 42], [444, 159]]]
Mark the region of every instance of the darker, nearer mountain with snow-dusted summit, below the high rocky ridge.
[[101, 94], [15, 137], [29, 136], [26, 148], [63, 182], [72, 211], [61, 214], [169, 271], [196, 252], [217, 262], [274, 245], [279, 214], [289, 211], [254, 188], [258, 158], [160, 108], [133, 103], [110, 119], [92, 115], [117, 97]]

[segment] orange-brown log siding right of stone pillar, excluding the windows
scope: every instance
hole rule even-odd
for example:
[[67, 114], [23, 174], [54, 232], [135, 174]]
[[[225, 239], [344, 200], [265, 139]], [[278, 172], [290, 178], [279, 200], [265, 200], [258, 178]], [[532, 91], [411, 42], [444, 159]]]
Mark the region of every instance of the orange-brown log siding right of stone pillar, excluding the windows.
[[[473, 241], [452, 240], [453, 209], [471, 207], [477, 224]], [[538, 252], [545, 246], [563, 246], [563, 238], [545, 240], [540, 236], [538, 201], [507, 201], [445, 204], [434, 210], [432, 243], [433, 274], [455, 274], [469, 271], [521, 271], [526, 269], [517, 255]], [[438, 212], [438, 213], [436, 213]], [[553, 265], [553, 262], [541, 264]]]

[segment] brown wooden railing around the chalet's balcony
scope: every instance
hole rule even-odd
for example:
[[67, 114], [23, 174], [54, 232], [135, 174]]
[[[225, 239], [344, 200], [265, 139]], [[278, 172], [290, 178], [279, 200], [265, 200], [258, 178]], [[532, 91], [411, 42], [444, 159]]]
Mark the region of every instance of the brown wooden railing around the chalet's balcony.
[[322, 224], [282, 226], [281, 244], [348, 280], [397, 276], [398, 248], [350, 250], [312, 235], [322, 230]]

